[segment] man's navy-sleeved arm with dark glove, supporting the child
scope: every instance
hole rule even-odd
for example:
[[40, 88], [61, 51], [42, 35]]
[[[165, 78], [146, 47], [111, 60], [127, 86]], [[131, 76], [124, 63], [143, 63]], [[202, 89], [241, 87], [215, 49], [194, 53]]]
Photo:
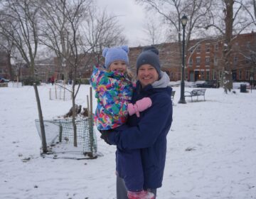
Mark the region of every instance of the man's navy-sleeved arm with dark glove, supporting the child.
[[110, 144], [115, 144], [119, 149], [142, 149], [152, 146], [159, 134], [171, 125], [172, 104], [168, 95], [158, 97], [153, 101], [152, 107], [147, 109], [138, 125], [111, 132], [107, 136]]

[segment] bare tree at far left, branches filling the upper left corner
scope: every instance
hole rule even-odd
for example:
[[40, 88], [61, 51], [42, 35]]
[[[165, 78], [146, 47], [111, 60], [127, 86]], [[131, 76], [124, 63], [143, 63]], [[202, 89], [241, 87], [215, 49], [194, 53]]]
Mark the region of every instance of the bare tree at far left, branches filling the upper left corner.
[[0, 1], [1, 34], [12, 41], [22, 58], [35, 74], [35, 58], [38, 50], [38, 8], [33, 0]]

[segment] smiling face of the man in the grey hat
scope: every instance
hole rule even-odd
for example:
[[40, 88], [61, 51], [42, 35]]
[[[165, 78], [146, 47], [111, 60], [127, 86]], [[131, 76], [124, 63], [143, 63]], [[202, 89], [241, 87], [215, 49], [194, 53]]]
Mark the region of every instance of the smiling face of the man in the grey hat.
[[146, 85], [151, 85], [159, 80], [159, 74], [156, 71], [156, 68], [149, 64], [144, 64], [139, 67], [138, 80], [142, 84], [142, 87], [145, 87]]

